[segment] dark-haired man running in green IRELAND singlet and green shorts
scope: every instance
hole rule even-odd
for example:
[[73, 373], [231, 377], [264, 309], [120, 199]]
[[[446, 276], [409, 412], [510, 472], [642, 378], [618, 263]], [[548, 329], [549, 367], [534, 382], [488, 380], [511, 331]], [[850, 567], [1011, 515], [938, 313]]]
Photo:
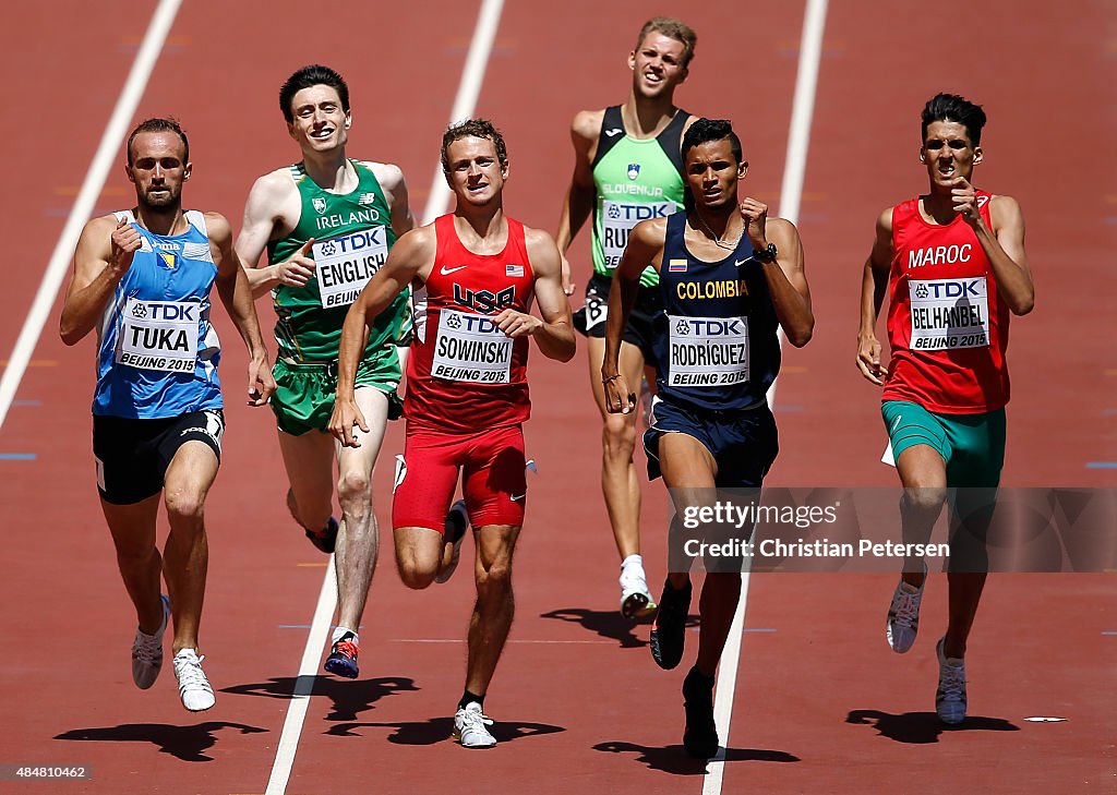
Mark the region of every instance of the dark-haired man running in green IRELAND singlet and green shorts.
[[[337, 626], [325, 668], [355, 679], [357, 628], [379, 548], [372, 472], [399, 402], [394, 343], [410, 333], [407, 290], [376, 318], [361, 360], [356, 401], [370, 430], [360, 448], [335, 446], [328, 432], [337, 347], [350, 304], [414, 219], [399, 167], [346, 157], [353, 117], [341, 75], [316, 65], [299, 69], [283, 85], [279, 106], [303, 159], [252, 185], [237, 253], [254, 297], [270, 291], [279, 318], [271, 408], [290, 481], [287, 507], [314, 546], [333, 553], [336, 545]], [[331, 516], [335, 456], [341, 523]]]

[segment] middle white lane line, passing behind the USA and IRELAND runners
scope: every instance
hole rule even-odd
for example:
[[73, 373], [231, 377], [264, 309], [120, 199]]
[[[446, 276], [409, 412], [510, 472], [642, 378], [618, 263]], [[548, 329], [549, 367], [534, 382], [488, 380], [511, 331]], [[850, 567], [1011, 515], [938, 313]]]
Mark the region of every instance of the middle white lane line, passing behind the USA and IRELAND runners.
[[[469, 45], [469, 54], [466, 56], [466, 65], [461, 70], [458, 95], [450, 112], [451, 123], [467, 118], [477, 106], [477, 97], [480, 96], [485, 69], [488, 66], [493, 40], [496, 38], [503, 9], [504, 0], [483, 0], [481, 2], [480, 11], [477, 15], [477, 26], [474, 28], [474, 38]], [[427, 197], [422, 222], [430, 223], [446, 212], [449, 198], [450, 189], [442, 176], [442, 164], [439, 162], [435, 167], [435, 179]], [[306, 649], [299, 664], [295, 692], [287, 708], [287, 717], [284, 719], [283, 734], [276, 746], [276, 758], [271, 766], [266, 795], [284, 795], [287, 791], [290, 770], [295, 764], [295, 754], [298, 751], [298, 740], [303, 734], [303, 721], [306, 719], [306, 710], [309, 707], [309, 692], [317, 672], [318, 657], [325, 644], [326, 631], [330, 629], [336, 604], [337, 587], [333, 556], [331, 556], [331, 565], [326, 567], [326, 577], [318, 595], [318, 606], [314, 611], [311, 632], [306, 639]]]

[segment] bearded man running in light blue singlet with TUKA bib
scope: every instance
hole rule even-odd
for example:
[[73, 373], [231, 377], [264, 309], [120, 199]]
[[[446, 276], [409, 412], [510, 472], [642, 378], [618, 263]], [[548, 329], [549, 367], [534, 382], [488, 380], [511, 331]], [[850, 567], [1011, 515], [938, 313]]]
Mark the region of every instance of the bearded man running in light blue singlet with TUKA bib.
[[[209, 547], [206, 495], [225, 431], [221, 355], [210, 291], [248, 346], [248, 403], [275, 391], [252, 297], [232, 250], [229, 222], [182, 209], [190, 145], [179, 124], [150, 118], [132, 131], [125, 171], [136, 207], [85, 224], [74, 255], [59, 331], [74, 345], [97, 329], [93, 452], [101, 506], [124, 587], [136, 609], [132, 679], [155, 682], [163, 633], [174, 622], [174, 673], [182, 706], [213, 706], [198, 654]], [[171, 529], [160, 554], [160, 496]], [[170, 600], [160, 595], [160, 573]]]

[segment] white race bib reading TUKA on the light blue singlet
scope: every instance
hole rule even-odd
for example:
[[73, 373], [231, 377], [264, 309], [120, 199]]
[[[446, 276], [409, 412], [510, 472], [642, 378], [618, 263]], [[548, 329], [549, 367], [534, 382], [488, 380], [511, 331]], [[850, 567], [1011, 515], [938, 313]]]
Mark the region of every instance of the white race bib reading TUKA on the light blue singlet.
[[198, 361], [202, 305], [189, 301], [124, 301], [116, 363], [140, 370], [192, 373]]

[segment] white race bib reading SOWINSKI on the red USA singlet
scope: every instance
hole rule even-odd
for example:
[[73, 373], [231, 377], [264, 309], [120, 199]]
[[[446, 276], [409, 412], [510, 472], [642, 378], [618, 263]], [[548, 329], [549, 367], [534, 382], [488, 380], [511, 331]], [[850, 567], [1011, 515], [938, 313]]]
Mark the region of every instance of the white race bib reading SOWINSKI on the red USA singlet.
[[507, 384], [512, 339], [484, 315], [442, 309], [430, 374], [446, 381]]

